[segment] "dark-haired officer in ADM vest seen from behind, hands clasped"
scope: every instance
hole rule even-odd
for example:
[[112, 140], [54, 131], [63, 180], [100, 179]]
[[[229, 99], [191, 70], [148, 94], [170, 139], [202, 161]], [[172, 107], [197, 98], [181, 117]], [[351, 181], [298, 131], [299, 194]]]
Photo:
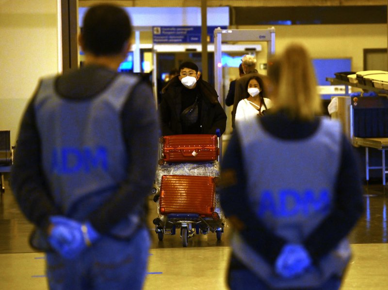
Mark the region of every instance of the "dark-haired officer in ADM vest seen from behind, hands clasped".
[[151, 88], [117, 72], [131, 33], [123, 9], [91, 7], [85, 66], [44, 78], [21, 122], [11, 185], [50, 289], [142, 289], [160, 128]]

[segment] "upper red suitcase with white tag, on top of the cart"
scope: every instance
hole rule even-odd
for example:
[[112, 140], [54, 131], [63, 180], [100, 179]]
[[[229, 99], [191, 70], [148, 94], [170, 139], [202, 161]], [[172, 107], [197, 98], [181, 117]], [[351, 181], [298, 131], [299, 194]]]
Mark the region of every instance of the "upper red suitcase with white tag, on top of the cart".
[[214, 161], [220, 154], [217, 135], [170, 135], [160, 138], [164, 162]]

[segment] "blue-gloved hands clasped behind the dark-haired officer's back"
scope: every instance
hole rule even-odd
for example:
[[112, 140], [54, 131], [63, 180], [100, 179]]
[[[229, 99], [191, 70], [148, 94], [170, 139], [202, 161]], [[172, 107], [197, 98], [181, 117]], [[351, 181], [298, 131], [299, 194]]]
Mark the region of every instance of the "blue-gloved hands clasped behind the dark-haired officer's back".
[[53, 216], [54, 225], [49, 236], [52, 247], [66, 259], [74, 259], [99, 238], [98, 232], [87, 222], [81, 224], [62, 216]]

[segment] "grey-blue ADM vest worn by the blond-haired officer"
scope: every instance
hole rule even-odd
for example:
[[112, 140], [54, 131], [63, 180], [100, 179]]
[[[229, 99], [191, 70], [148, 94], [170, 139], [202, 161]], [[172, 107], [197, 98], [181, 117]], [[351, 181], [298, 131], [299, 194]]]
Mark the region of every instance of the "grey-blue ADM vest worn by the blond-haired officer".
[[[295, 140], [272, 136], [256, 118], [236, 125], [247, 175], [246, 190], [257, 218], [277, 236], [290, 243], [302, 243], [333, 206], [341, 149], [340, 123], [322, 118], [315, 134]], [[238, 233], [232, 238], [232, 247], [242, 263], [279, 289], [317, 287], [331, 275], [340, 275], [351, 254], [344, 239], [318, 266], [286, 279], [278, 276], [274, 267]]]

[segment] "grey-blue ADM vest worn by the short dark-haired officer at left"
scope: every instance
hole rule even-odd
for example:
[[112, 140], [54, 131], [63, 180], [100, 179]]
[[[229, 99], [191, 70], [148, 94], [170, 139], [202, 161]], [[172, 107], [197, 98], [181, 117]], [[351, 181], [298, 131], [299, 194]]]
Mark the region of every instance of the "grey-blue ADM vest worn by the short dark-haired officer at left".
[[[55, 81], [44, 79], [34, 99], [43, 170], [55, 205], [83, 221], [127, 177], [120, 115], [139, 79], [117, 75], [104, 91], [82, 100], [61, 97]], [[129, 216], [113, 234], [128, 236], [137, 220], [136, 214]]]

